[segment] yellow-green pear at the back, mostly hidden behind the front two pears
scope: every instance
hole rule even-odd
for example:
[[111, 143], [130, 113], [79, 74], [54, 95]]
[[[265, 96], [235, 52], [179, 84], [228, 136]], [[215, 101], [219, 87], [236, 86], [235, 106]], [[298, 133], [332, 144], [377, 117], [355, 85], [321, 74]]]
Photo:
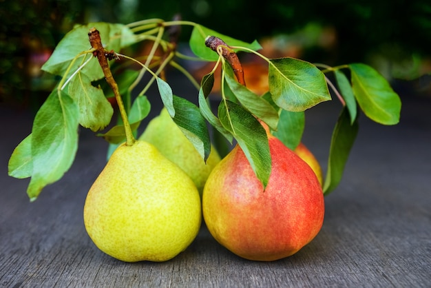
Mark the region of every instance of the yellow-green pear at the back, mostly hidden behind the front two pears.
[[202, 195], [211, 170], [220, 162], [220, 156], [213, 147], [205, 164], [193, 144], [171, 119], [166, 108], [148, 123], [139, 139], [156, 146], [160, 153], [183, 169]]

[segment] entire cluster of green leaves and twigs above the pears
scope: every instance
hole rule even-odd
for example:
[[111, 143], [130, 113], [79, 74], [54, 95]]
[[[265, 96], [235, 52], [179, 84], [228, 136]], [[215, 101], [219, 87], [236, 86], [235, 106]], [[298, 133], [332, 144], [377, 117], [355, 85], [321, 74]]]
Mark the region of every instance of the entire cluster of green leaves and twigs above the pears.
[[[199, 90], [198, 106], [174, 95], [169, 84], [160, 77], [165, 65], [169, 63], [193, 81], [193, 77], [174, 60], [174, 56], [187, 57], [163, 38], [165, 28], [174, 25], [193, 25], [189, 45], [197, 59], [215, 61], [213, 71], [218, 65], [222, 66], [222, 98], [217, 114], [213, 113], [208, 101], [213, 88], [214, 72], [204, 76], [200, 85], [195, 83]], [[149, 113], [150, 103], [145, 93], [149, 85], [156, 81], [167, 111], [204, 160], [211, 149], [207, 129], [209, 122], [227, 141], [233, 143], [235, 139], [238, 142], [264, 185], [271, 173], [271, 156], [266, 131], [260, 121], [266, 123], [286, 146], [295, 149], [304, 130], [304, 110], [331, 99], [328, 83], [345, 105], [333, 131], [325, 193], [332, 191], [341, 180], [357, 134], [359, 109], [373, 121], [384, 125], [393, 125], [399, 121], [401, 101], [398, 95], [368, 65], [355, 63], [320, 70], [316, 65], [299, 59], [266, 59], [256, 52], [261, 49], [256, 41], [244, 43], [187, 21], [150, 19], [129, 25], [79, 25], [65, 35], [43, 65], [42, 69], [46, 72], [63, 78], [36, 114], [32, 133], [17, 146], [10, 158], [10, 176], [31, 177], [28, 186], [31, 200], [39, 196], [43, 187], [58, 181], [72, 165], [78, 147], [78, 125], [96, 132], [103, 130], [112, 121], [113, 108], [107, 101], [112, 93], [94, 85], [94, 81], [103, 79], [103, 72], [92, 55], [93, 50], [90, 49], [87, 38], [87, 32], [92, 27], [100, 31], [105, 47], [116, 52], [139, 41], [154, 41], [145, 63], [118, 54], [123, 59], [132, 60], [130, 63], [139, 63], [143, 67], [140, 71], [123, 68], [118, 75], [114, 72], [132, 130], [136, 132], [140, 122]], [[257, 95], [238, 83], [222, 54], [213, 52], [205, 45], [208, 35], [223, 39], [236, 52], [252, 52], [268, 61], [269, 91], [264, 95]], [[165, 55], [155, 56], [157, 48], [162, 48]], [[158, 70], [150, 70], [151, 65], [158, 67]], [[350, 80], [341, 72], [343, 69], [350, 70]], [[151, 81], [131, 103], [131, 91], [145, 72], [151, 73]], [[328, 82], [325, 72], [335, 73], [338, 89]], [[120, 121], [111, 130], [99, 135], [112, 143], [111, 150], [125, 141], [125, 131]]]

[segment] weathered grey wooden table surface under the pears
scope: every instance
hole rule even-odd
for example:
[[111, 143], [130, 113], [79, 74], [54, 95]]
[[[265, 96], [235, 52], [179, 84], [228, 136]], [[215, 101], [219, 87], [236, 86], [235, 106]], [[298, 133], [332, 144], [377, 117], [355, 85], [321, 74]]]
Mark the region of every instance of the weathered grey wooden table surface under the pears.
[[[401, 123], [364, 116], [339, 187], [327, 196], [319, 235], [271, 263], [238, 258], [205, 227], [165, 263], [123, 263], [85, 232], [87, 190], [105, 165], [106, 143], [81, 130], [76, 161], [34, 203], [28, 179], [8, 176], [32, 114], [0, 107], [1, 287], [431, 287], [431, 98], [403, 95]], [[335, 102], [335, 101], [334, 101]], [[304, 143], [326, 165], [339, 105], [307, 112]]]

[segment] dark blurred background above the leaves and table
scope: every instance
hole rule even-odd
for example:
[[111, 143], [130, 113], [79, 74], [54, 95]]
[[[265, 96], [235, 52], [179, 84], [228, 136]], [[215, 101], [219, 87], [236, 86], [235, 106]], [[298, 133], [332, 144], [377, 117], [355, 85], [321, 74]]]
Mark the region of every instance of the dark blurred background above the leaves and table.
[[170, 20], [177, 13], [231, 37], [257, 39], [274, 56], [368, 63], [392, 83], [430, 96], [429, 0], [0, 0], [0, 104], [41, 104], [55, 81], [40, 67], [75, 23]]

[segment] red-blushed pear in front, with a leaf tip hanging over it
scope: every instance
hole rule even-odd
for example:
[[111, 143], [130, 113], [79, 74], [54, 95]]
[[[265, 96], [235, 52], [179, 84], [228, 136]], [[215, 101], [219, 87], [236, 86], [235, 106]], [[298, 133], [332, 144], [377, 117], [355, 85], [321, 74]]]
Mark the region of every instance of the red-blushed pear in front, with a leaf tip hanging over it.
[[269, 148], [266, 189], [237, 145], [214, 167], [202, 197], [211, 235], [249, 260], [295, 254], [315, 238], [324, 220], [322, 187], [311, 167], [271, 135]]

